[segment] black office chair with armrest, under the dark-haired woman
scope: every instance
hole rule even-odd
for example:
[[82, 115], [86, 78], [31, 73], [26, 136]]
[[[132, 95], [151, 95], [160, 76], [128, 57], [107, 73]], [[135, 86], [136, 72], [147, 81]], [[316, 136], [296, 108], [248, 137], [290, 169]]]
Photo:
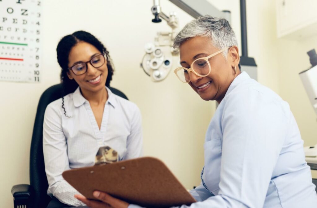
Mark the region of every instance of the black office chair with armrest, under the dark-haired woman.
[[[110, 90], [128, 100], [120, 90]], [[61, 98], [62, 85], [56, 84], [44, 91], [37, 106], [33, 127], [31, 151], [30, 151], [30, 185], [19, 184], [11, 189], [15, 208], [45, 208], [51, 198], [47, 195], [48, 182], [45, 173], [44, 156], [42, 148], [43, 120], [47, 105]]]

